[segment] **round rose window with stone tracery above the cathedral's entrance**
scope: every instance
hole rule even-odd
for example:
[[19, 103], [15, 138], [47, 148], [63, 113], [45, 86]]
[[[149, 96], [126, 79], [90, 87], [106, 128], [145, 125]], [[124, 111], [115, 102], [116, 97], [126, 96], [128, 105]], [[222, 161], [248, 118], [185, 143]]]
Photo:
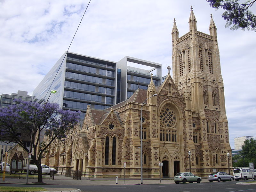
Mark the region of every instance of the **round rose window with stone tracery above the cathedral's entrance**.
[[160, 114], [160, 121], [165, 127], [173, 127], [176, 124], [176, 116], [169, 107], [164, 107]]

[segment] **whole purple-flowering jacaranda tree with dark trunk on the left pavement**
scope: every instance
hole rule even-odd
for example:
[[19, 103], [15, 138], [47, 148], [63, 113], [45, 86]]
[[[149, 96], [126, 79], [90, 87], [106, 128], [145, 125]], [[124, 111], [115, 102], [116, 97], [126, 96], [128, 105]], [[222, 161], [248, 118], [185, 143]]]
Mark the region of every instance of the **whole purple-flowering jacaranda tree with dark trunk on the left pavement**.
[[[77, 111], [63, 110], [56, 103], [42, 103], [16, 100], [16, 104], [0, 108], [0, 140], [19, 144], [25, 151], [24, 142], [31, 140], [31, 158], [38, 168], [38, 183], [43, 183], [41, 159], [44, 151], [54, 140], [63, 140], [79, 122]], [[47, 142], [40, 143], [40, 135]]]

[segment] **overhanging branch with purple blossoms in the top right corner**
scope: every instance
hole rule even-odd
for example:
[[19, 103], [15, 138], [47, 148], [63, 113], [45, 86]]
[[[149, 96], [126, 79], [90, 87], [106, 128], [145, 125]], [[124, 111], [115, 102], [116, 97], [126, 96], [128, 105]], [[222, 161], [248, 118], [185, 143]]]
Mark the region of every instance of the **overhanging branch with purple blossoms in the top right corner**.
[[232, 30], [241, 28], [242, 30], [256, 31], [256, 15], [249, 8], [256, 0], [244, 1], [240, 0], [207, 0], [210, 6], [218, 10], [219, 8], [226, 10], [222, 17], [227, 21], [225, 27], [231, 27]]

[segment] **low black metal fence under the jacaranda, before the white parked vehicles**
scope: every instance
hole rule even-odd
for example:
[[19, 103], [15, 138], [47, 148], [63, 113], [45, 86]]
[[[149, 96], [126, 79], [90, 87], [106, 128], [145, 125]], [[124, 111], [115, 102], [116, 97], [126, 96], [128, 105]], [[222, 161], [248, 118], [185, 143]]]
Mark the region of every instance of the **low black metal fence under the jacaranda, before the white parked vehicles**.
[[[33, 174], [31, 174], [33, 173]], [[43, 179], [54, 179], [54, 171], [49, 172], [43, 172], [42, 174]], [[8, 179], [26, 179], [27, 178], [27, 172], [24, 172], [24, 170], [21, 169], [12, 169], [11, 172], [2, 172], [0, 171], [0, 178], [8, 178]], [[37, 172], [29, 172], [28, 179], [37, 179], [38, 173]]]

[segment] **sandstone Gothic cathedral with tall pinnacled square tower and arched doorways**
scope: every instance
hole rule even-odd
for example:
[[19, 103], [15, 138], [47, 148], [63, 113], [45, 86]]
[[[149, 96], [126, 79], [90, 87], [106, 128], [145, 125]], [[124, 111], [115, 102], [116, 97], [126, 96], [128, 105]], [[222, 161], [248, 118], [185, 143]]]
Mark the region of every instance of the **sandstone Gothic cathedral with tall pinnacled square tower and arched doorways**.
[[196, 22], [191, 7], [189, 32], [179, 37], [174, 20], [173, 77], [168, 67], [159, 86], [151, 78], [148, 90], [138, 89], [115, 106], [88, 106], [83, 126], [65, 142], [53, 143], [42, 164], [59, 173], [73, 169], [92, 177], [115, 177], [124, 175], [126, 162], [126, 177], [140, 177], [142, 138], [143, 177], [172, 178], [189, 172], [188, 151], [192, 173], [206, 177], [213, 171], [228, 172], [226, 154], [231, 148], [216, 26], [211, 15], [208, 35], [197, 31]]

